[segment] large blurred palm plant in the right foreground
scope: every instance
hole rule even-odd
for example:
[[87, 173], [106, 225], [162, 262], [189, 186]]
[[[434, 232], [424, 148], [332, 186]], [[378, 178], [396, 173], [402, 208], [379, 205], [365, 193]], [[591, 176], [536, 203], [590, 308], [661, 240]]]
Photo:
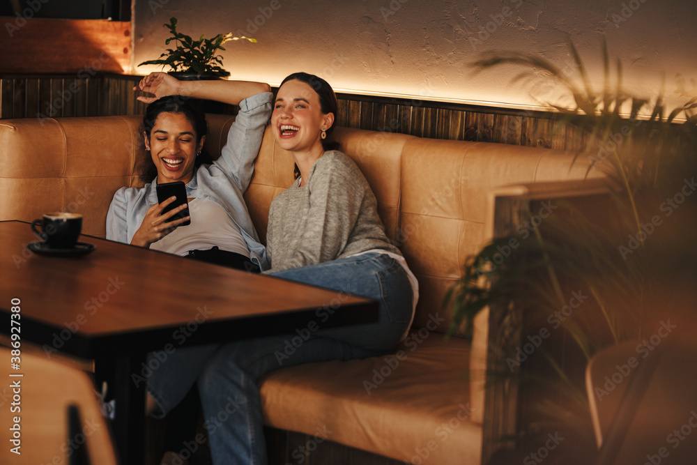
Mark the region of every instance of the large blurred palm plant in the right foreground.
[[[668, 289], [691, 287], [697, 254], [687, 241], [697, 222], [697, 195], [680, 197], [684, 199], [680, 210], [670, 201], [697, 171], [697, 99], [665, 116], [661, 96], [628, 96], [622, 90], [620, 61], [616, 80], [611, 79], [606, 47], [605, 82], [596, 92], [574, 45], [569, 49], [577, 79], [550, 61], [519, 52], [496, 52], [473, 64], [478, 71], [523, 66], [516, 79], [534, 79], [542, 71], [556, 88], [566, 91], [550, 105], [559, 112], [556, 129], [574, 134], [581, 147], [576, 160], [612, 168], [608, 172], [613, 227], [596, 222], [592, 211], [560, 206], [559, 211], [566, 213], [544, 220], [503, 263], [492, 266], [490, 257], [517, 239], [514, 232], [468, 257], [463, 277], [444, 305], [453, 307], [453, 332], [461, 324], [468, 326], [486, 307], [505, 309], [506, 318], [498, 321], [510, 325], [508, 331], [518, 331], [526, 342], [540, 328], [555, 328], [527, 360], [510, 353], [509, 363], [488, 373], [491, 383], [519, 386], [517, 437], [493, 440], [514, 441], [530, 452], [537, 434], [544, 438], [562, 431], [573, 440], [559, 448], [558, 461], [550, 455], [549, 463], [575, 464], [588, 463], [588, 452], [595, 449], [583, 385], [588, 359], [604, 346], [649, 337], [657, 315], [675, 308]], [[625, 108], [629, 111], [623, 116]], [[680, 123], [678, 116], [683, 116]], [[555, 317], [568, 304], [570, 291], [579, 289], [583, 307], [572, 316]]]

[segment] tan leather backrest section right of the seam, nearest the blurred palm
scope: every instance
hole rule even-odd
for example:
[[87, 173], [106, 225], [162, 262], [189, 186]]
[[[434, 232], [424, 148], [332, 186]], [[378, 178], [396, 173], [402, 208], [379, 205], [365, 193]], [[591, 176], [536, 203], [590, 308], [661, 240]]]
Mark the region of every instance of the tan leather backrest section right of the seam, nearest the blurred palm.
[[400, 245], [421, 287], [417, 327], [441, 310], [466, 257], [491, 240], [490, 192], [508, 184], [582, 179], [588, 167], [584, 160], [572, 167], [572, 156], [562, 151], [437, 139], [408, 140], [401, 165]]

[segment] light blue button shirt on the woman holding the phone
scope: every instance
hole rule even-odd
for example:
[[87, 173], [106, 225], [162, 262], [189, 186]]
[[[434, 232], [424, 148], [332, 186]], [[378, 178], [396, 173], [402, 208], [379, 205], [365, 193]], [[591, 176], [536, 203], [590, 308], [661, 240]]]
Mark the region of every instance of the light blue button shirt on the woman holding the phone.
[[[227, 211], [240, 227], [250, 259], [262, 270], [269, 268], [266, 247], [259, 243], [243, 193], [252, 180], [254, 160], [271, 114], [272, 98], [272, 93], [263, 92], [240, 102], [240, 111], [228, 132], [220, 158], [213, 165], [199, 167], [186, 185], [187, 197], [215, 201]], [[116, 191], [107, 213], [107, 239], [130, 243], [148, 208], [158, 203], [156, 185], [157, 180], [143, 188]]]

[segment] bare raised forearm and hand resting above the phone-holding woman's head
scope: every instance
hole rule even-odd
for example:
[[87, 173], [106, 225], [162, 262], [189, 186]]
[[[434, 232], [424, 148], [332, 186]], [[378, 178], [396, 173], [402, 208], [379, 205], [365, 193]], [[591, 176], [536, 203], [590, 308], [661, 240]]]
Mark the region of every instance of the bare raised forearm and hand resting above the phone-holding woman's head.
[[239, 105], [242, 100], [256, 93], [270, 92], [271, 87], [265, 82], [251, 81], [180, 81], [167, 73], [151, 73], [141, 79], [133, 90], [154, 94], [154, 97], [138, 97], [138, 100], [145, 103], [165, 96], [179, 95]]

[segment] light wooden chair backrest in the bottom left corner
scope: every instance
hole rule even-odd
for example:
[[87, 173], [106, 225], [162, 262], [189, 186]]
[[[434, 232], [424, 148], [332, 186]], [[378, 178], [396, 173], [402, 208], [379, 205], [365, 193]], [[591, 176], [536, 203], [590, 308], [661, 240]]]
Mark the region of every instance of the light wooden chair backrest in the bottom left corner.
[[[0, 347], [0, 357], [10, 360], [10, 349]], [[10, 443], [0, 449], [1, 464], [71, 464], [80, 455], [90, 464], [118, 463], [86, 373], [22, 351], [20, 369], [6, 379], [2, 427]]]

